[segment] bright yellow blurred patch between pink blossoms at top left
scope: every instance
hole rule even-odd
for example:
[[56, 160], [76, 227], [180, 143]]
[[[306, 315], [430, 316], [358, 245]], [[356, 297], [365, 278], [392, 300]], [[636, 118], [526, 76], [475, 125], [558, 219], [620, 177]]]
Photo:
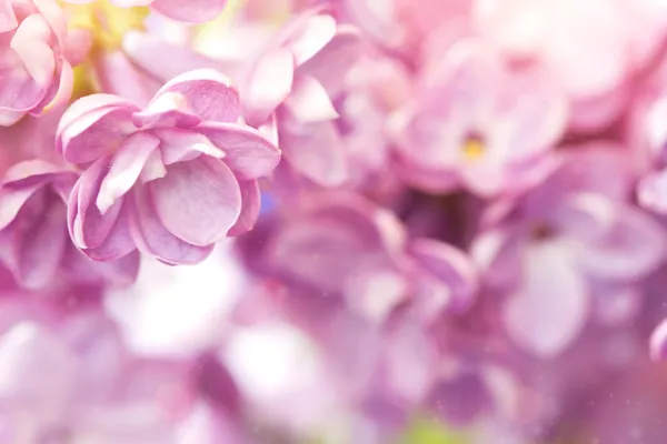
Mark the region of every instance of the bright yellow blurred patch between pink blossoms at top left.
[[131, 30], [145, 29], [148, 7], [120, 8], [109, 0], [86, 4], [62, 3], [69, 14], [68, 28], [87, 29], [93, 38], [93, 50], [113, 51], [120, 48], [123, 36]]

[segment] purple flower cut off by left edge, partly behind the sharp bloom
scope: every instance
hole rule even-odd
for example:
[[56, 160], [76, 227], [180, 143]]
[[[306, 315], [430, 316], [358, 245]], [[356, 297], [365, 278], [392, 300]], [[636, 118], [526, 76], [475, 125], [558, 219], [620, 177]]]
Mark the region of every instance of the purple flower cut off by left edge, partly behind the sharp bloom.
[[67, 200], [78, 174], [42, 161], [13, 165], [0, 188], [0, 260], [27, 289], [58, 282], [131, 283], [138, 256], [91, 263], [67, 233]]

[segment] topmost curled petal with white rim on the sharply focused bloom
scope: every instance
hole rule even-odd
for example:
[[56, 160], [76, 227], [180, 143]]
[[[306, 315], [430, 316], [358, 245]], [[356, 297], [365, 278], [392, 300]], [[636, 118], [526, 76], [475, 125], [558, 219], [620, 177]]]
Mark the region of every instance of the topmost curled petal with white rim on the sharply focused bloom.
[[231, 88], [231, 81], [212, 69], [188, 71], [171, 79], [160, 88], [148, 108], [169, 93], [180, 94], [187, 105], [185, 111], [205, 121], [235, 122], [241, 114], [239, 94]]

